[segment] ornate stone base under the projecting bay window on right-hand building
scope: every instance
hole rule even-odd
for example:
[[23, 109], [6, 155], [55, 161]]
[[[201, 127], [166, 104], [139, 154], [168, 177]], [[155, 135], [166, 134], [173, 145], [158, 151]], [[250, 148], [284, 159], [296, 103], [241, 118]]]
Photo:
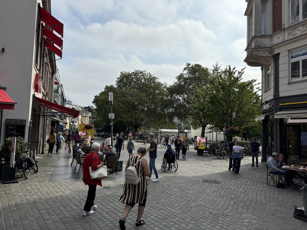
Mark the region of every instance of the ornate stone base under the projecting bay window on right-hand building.
[[272, 36], [253, 36], [247, 45], [244, 62], [249, 66], [262, 67], [272, 58]]

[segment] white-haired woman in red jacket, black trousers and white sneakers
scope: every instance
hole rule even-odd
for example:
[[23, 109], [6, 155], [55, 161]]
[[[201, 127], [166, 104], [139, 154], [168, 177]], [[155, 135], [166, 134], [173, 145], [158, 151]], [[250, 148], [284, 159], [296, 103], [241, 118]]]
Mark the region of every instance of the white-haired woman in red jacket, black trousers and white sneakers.
[[94, 213], [94, 210], [97, 209], [97, 205], [94, 205], [94, 200], [96, 196], [96, 186], [101, 184], [101, 180], [92, 180], [90, 175], [89, 167], [92, 167], [92, 170], [97, 170], [100, 167], [103, 167], [103, 162], [100, 162], [98, 153], [100, 151], [100, 144], [94, 142], [91, 145], [91, 152], [86, 155], [83, 162], [83, 182], [85, 185], [88, 185], [88, 193], [86, 202], [83, 209], [83, 216], [91, 215]]

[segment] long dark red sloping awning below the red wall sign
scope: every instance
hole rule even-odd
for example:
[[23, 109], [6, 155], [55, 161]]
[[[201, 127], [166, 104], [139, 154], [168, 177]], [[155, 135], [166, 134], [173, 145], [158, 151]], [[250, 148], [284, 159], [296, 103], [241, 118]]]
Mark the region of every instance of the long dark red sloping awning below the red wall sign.
[[75, 109], [37, 98], [35, 95], [33, 95], [33, 100], [37, 103], [40, 110], [35, 113], [38, 113], [42, 117], [60, 117], [60, 119], [64, 119], [65, 117], [79, 117], [80, 112]]

